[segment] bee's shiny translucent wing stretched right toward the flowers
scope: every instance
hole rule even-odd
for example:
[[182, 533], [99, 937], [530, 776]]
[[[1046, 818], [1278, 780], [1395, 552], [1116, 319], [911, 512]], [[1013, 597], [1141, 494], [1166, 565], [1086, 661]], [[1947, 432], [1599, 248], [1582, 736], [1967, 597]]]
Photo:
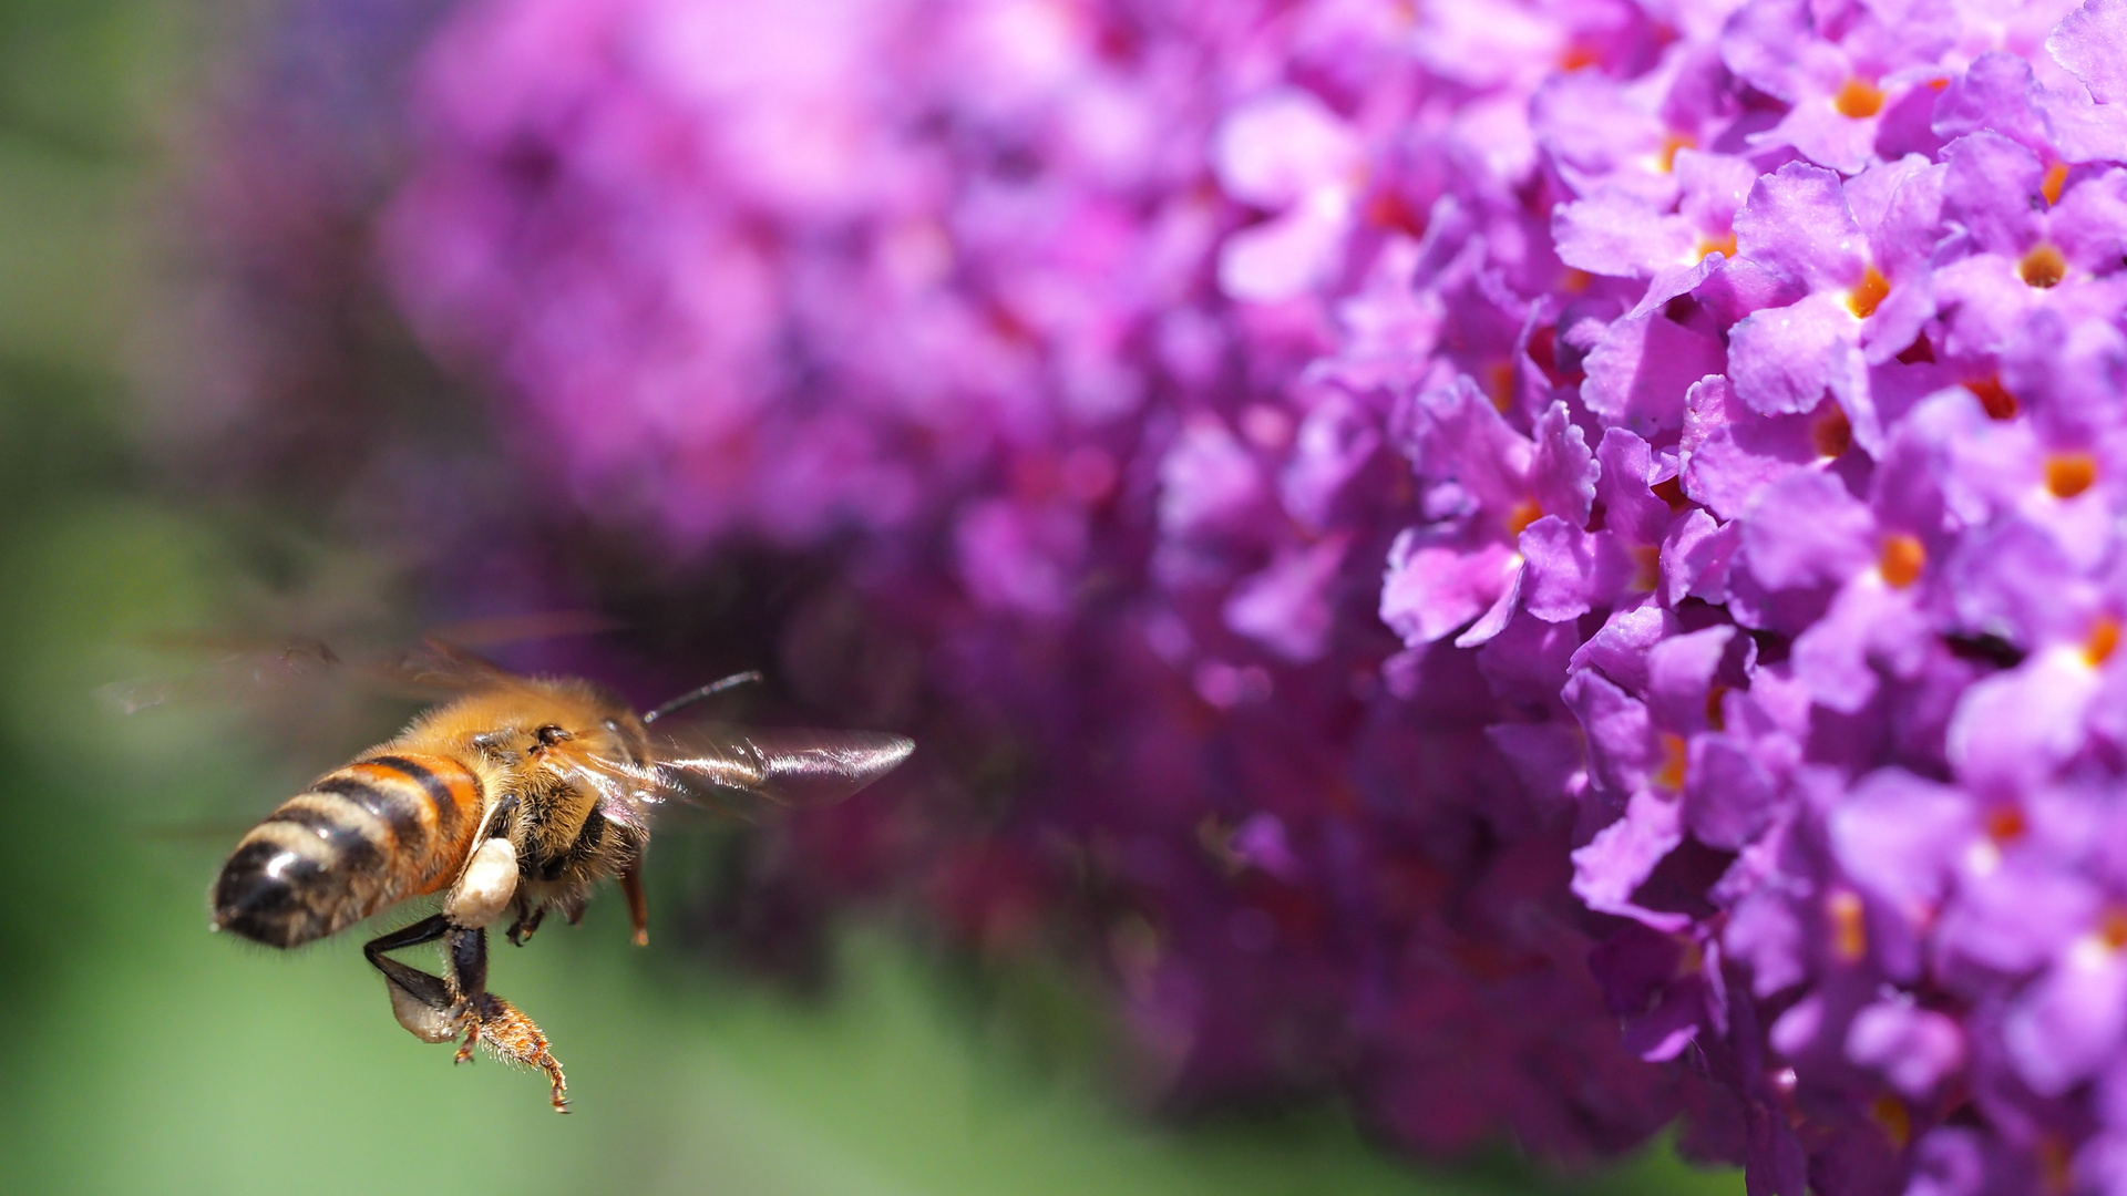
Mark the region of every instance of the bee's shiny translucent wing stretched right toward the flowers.
[[885, 777], [915, 747], [904, 734], [876, 730], [685, 728], [655, 736], [647, 796], [717, 809], [742, 807], [744, 798], [825, 807]]

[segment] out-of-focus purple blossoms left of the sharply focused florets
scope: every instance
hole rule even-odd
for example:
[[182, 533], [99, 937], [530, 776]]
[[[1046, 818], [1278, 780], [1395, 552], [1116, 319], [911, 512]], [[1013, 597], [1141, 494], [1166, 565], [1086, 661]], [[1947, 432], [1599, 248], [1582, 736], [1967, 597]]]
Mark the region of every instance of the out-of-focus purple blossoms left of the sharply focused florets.
[[[474, 4], [383, 245], [568, 502], [676, 551], [864, 532], [778, 675], [832, 704], [868, 681], [819, 641], [912, 645], [940, 713], [910, 730], [968, 800], [855, 849], [855, 815], [793, 828], [806, 887], [883, 875], [985, 949], [1078, 945], [1168, 1100], [1344, 1092], [1421, 1149], [1595, 1158], [1676, 1077], [1587, 970], [1568, 802], [1519, 794], [1474, 653], [1385, 675], [1374, 617], [1404, 372], [1455, 345], [1493, 377], [1519, 326], [1451, 309], [1557, 272], [1470, 179], [1529, 170], [1561, 62], [1644, 68], [1653, 36], [1504, 13]], [[1521, 275], [1412, 289], [1485, 221], [1523, 228]], [[1008, 764], [1000, 819], [966, 790]]]

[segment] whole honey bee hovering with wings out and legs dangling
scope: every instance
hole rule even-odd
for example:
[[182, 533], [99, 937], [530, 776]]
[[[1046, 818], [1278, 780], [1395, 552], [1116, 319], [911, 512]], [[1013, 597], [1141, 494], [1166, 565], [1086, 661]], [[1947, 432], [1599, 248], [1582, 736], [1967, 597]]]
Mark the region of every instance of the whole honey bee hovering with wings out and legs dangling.
[[[523, 945], [547, 913], [583, 915], [617, 877], [634, 941], [649, 943], [642, 851], [664, 802], [817, 807], [887, 775], [915, 743], [885, 732], [738, 730], [674, 719], [740, 675], [638, 715], [579, 679], [519, 677], [432, 643], [406, 664], [455, 696], [396, 738], [325, 773], [238, 841], [215, 879], [215, 930], [300, 947], [398, 902], [436, 913], [372, 938], [391, 1013], [425, 1043], [464, 1039], [534, 1066], [568, 1113], [568, 1083], [540, 1028], [487, 992], [487, 926], [510, 915]], [[389, 956], [442, 941], [445, 975]]]

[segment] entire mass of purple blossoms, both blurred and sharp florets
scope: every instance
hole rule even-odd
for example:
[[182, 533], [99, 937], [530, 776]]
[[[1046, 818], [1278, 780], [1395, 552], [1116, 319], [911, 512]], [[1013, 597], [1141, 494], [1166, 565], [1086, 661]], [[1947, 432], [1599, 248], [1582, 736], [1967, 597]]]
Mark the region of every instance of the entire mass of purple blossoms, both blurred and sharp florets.
[[874, 856], [1091, 928], [1168, 1092], [2127, 1192], [2127, 2], [489, 0], [423, 79], [415, 326], [676, 553], [864, 532], [1027, 762]]

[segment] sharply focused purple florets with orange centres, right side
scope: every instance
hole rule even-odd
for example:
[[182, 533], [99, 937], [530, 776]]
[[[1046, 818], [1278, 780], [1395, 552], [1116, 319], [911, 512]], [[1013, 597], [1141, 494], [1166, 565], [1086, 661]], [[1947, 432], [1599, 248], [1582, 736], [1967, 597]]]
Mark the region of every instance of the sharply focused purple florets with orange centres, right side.
[[1476, 649], [1625, 1041], [1763, 1192], [2127, 1190], [2123, 51], [1753, 0], [1536, 92], [1555, 262], [1527, 192], [1419, 251], [1502, 349], [1397, 379], [1380, 615]]

